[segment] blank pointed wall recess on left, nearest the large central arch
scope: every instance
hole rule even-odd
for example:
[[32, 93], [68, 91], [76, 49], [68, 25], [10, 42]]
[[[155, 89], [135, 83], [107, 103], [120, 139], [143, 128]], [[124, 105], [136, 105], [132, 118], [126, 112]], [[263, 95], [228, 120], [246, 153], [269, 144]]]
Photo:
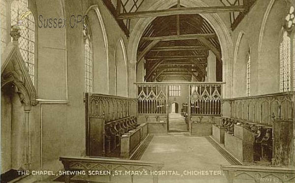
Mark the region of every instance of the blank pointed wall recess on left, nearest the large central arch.
[[128, 66], [127, 55], [124, 41], [122, 38], [118, 40], [115, 49], [115, 78], [116, 78], [116, 94], [118, 96], [128, 96]]

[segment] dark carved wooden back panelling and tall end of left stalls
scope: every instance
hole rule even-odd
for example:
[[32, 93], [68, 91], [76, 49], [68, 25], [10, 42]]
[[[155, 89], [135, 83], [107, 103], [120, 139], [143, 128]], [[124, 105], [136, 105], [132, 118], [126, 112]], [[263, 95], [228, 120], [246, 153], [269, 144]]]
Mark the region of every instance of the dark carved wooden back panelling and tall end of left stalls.
[[[105, 155], [106, 128], [110, 127], [106, 125], [108, 122], [121, 122], [123, 124], [120, 126], [126, 128], [125, 130], [135, 128], [133, 119], [130, 117], [137, 115], [136, 99], [86, 93], [85, 106], [87, 155]], [[116, 131], [115, 128], [114, 131]]]

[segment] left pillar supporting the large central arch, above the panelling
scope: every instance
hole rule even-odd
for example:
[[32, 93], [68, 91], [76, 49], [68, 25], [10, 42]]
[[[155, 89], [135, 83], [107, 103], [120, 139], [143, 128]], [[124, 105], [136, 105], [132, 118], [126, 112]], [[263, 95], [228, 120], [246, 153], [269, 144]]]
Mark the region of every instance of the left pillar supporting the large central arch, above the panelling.
[[128, 97], [137, 98], [136, 90], [136, 63], [137, 61], [128, 61]]

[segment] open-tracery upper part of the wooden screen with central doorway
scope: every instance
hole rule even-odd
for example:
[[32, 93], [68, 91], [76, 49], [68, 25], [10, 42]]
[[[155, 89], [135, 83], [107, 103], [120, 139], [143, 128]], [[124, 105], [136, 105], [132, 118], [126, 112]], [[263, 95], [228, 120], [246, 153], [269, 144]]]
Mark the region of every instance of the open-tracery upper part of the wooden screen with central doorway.
[[[220, 115], [222, 82], [175, 82], [175, 83], [137, 83], [138, 113], [166, 114], [169, 98], [169, 86], [186, 85], [189, 92], [181, 91], [181, 95], [189, 96], [192, 115]], [[188, 113], [187, 104], [183, 112]]]

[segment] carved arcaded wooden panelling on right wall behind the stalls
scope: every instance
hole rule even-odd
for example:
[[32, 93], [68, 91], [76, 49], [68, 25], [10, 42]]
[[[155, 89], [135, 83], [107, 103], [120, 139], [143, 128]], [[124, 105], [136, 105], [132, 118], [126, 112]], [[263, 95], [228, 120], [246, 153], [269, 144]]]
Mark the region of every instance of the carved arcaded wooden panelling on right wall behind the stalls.
[[230, 110], [231, 118], [271, 125], [272, 117], [279, 120], [293, 119], [293, 102], [293, 93], [223, 99], [223, 106], [230, 106], [223, 107], [223, 110]]

